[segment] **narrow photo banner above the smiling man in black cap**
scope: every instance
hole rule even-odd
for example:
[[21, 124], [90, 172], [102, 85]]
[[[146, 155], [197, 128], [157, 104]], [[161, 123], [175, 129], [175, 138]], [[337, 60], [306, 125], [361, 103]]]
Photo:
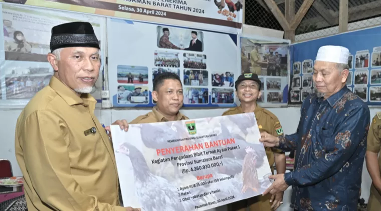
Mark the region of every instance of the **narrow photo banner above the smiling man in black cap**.
[[262, 107], [287, 106], [289, 40], [241, 36], [241, 72], [258, 74]]

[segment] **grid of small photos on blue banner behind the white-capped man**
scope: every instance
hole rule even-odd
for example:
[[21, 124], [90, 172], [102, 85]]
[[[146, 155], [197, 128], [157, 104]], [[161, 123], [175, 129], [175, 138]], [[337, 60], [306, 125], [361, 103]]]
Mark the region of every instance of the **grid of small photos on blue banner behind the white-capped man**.
[[[312, 60], [294, 62], [291, 81], [290, 101], [302, 102], [304, 98], [315, 91], [313, 88]], [[381, 46], [369, 50], [356, 51], [348, 58], [349, 75], [347, 87], [357, 94], [363, 101], [381, 101]], [[302, 72], [300, 70], [302, 69]], [[369, 78], [370, 74], [370, 78]], [[312, 84], [312, 85], [311, 85]]]

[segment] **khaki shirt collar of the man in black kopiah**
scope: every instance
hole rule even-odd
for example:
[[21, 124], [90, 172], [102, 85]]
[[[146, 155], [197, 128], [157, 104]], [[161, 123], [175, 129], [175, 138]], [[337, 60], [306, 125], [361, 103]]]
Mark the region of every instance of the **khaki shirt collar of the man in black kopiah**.
[[91, 94], [83, 93], [79, 97], [72, 89], [66, 86], [61, 80], [57, 77], [52, 76], [49, 82], [49, 86], [57, 92], [70, 106], [76, 104], [91, 105], [95, 108], [97, 100]]

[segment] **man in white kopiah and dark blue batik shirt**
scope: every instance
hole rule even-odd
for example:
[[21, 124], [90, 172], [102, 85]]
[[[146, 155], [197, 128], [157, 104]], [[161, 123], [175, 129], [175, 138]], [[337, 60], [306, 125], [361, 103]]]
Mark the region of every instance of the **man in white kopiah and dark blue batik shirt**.
[[303, 101], [296, 132], [261, 132], [265, 146], [296, 149], [294, 170], [271, 175], [275, 181], [264, 192], [292, 185], [294, 210], [357, 210], [370, 116], [368, 106], [346, 87], [348, 56], [345, 47], [320, 47], [313, 67], [317, 93]]

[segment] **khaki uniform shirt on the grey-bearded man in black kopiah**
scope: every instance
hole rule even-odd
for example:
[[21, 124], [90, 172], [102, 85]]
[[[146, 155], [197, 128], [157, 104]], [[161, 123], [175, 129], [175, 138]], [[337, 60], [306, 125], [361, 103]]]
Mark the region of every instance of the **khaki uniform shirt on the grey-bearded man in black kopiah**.
[[[29, 211], [125, 211], [117, 206], [114, 152], [95, 104], [53, 76], [21, 112], [15, 148]], [[91, 128], [96, 132], [85, 135]]]

